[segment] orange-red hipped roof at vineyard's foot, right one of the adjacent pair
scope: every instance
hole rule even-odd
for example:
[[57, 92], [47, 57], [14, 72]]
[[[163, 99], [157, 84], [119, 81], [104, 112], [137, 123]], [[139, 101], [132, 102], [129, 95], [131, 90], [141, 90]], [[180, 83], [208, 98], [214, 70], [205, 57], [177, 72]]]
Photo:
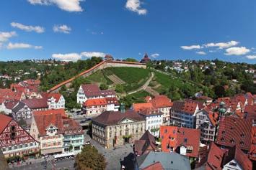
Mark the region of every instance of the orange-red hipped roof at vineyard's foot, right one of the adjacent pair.
[[152, 100], [149, 101], [152, 103], [154, 108], [167, 108], [172, 107], [173, 103], [166, 95], [156, 95]]

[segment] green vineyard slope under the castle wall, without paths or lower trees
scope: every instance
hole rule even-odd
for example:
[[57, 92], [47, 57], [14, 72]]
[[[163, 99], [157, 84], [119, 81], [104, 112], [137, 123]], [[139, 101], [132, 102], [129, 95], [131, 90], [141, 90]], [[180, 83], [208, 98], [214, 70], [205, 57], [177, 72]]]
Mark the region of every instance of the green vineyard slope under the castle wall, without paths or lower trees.
[[104, 70], [99, 70], [93, 75], [87, 77], [92, 83], [109, 85], [110, 88], [115, 89], [116, 85], [108, 78], [110, 75], [117, 76], [120, 80], [125, 82], [123, 90], [128, 93], [132, 90], [140, 88], [146, 80], [149, 79], [150, 73], [154, 72], [155, 76], [150, 82], [149, 86], [160, 94], [168, 95], [173, 100], [182, 98], [189, 98], [198, 91], [208, 92], [208, 88], [202, 85], [197, 85], [195, 82], [181, 79], [172, 75], [166, 75], [163, 72], [155, 70], [134, 68], [134, 67], [110, 67]]

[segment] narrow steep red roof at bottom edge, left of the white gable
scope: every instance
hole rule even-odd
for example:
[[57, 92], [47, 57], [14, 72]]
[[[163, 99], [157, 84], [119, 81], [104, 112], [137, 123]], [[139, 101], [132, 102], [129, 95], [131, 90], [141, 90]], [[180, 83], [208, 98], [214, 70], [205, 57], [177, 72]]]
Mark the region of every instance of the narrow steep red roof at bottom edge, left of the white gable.
[[223, 166], [223, 159], [225, 156], [224, 150], [216, 146], [215, 143], [211, 143], [211, 148], [208, 154], [206, 170], [221, 170]]

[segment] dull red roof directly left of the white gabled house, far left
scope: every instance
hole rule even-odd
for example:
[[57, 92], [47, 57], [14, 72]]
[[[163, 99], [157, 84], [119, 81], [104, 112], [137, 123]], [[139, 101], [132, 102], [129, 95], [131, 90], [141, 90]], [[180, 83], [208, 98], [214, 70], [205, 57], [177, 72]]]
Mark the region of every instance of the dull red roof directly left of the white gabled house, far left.
[[25, 103], [30, 109], [48, 108], [47, 100], [45, 98], [26, 99], [22, 100], [22, 103]]

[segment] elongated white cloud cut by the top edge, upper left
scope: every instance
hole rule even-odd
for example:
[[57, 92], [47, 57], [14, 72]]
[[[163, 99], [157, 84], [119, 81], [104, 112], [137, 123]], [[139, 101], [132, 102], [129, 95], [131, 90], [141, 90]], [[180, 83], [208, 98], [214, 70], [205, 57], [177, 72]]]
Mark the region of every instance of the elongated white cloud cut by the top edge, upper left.
[[64, 11], [83, 11], [80, 6], [81, 1], [85, 0], [27, 0], [33, 5], [56, 5]]

